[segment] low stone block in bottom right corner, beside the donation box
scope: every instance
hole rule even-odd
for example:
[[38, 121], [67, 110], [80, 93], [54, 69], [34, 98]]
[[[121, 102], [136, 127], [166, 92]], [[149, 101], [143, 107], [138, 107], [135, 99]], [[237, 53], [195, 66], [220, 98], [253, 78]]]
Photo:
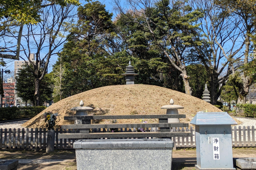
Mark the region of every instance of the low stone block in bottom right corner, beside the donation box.
[[256, 158], [233, 158], [238, 170], [256, 170]]

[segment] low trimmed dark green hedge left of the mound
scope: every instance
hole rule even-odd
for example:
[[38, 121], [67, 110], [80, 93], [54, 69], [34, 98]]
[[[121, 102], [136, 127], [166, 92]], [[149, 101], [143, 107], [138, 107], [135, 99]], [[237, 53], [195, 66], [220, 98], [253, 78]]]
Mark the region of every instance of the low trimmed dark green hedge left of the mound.
[[0, 108], [0, 121], [33, 118], [45, 109], [45, 106]]

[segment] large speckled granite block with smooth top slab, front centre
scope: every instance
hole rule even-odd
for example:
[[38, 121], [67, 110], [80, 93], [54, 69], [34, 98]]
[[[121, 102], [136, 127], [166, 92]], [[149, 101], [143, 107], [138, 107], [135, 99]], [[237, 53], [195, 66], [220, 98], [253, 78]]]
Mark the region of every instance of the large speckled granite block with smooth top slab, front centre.
[[173, 141], [170, 139], [78, 140], [77, 170], [171, 170]]

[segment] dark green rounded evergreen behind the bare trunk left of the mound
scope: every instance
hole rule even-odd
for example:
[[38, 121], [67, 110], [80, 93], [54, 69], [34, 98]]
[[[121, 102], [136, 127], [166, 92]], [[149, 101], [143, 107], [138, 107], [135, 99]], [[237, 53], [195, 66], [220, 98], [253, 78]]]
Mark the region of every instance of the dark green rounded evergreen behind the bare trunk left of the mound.
[[[40, 83], [40, 98], [41, 105], [44, 101], [51, 100], [53, 89], [51, 85], [51, 75], [46, 74]], [[36, 105], [35, 101], [35, 81], [31, 70], [27, 65], [24, 65], [22, 69], [19, 69], [16, 77], [16, 90], [17, 96], [22, 98], [23, 101], [31, 101], [33, 106]]]

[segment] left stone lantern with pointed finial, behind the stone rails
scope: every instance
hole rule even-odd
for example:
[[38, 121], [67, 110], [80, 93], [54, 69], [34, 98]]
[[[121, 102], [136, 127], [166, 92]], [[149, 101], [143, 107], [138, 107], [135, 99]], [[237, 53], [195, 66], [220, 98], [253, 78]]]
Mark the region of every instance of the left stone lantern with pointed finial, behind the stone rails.
[[[76, 111], [76, 116], [87, 116], [87, 111], [93, 110], [91, 107], [84, 107], [84, 102], [81, 100], [80, 106], [74, 107], [70, 110]], [[75, 120], [75, 124], [91, 124], [91, 120]], [[80, 133], [89, 133], [89, 129], [80, 129]]]

